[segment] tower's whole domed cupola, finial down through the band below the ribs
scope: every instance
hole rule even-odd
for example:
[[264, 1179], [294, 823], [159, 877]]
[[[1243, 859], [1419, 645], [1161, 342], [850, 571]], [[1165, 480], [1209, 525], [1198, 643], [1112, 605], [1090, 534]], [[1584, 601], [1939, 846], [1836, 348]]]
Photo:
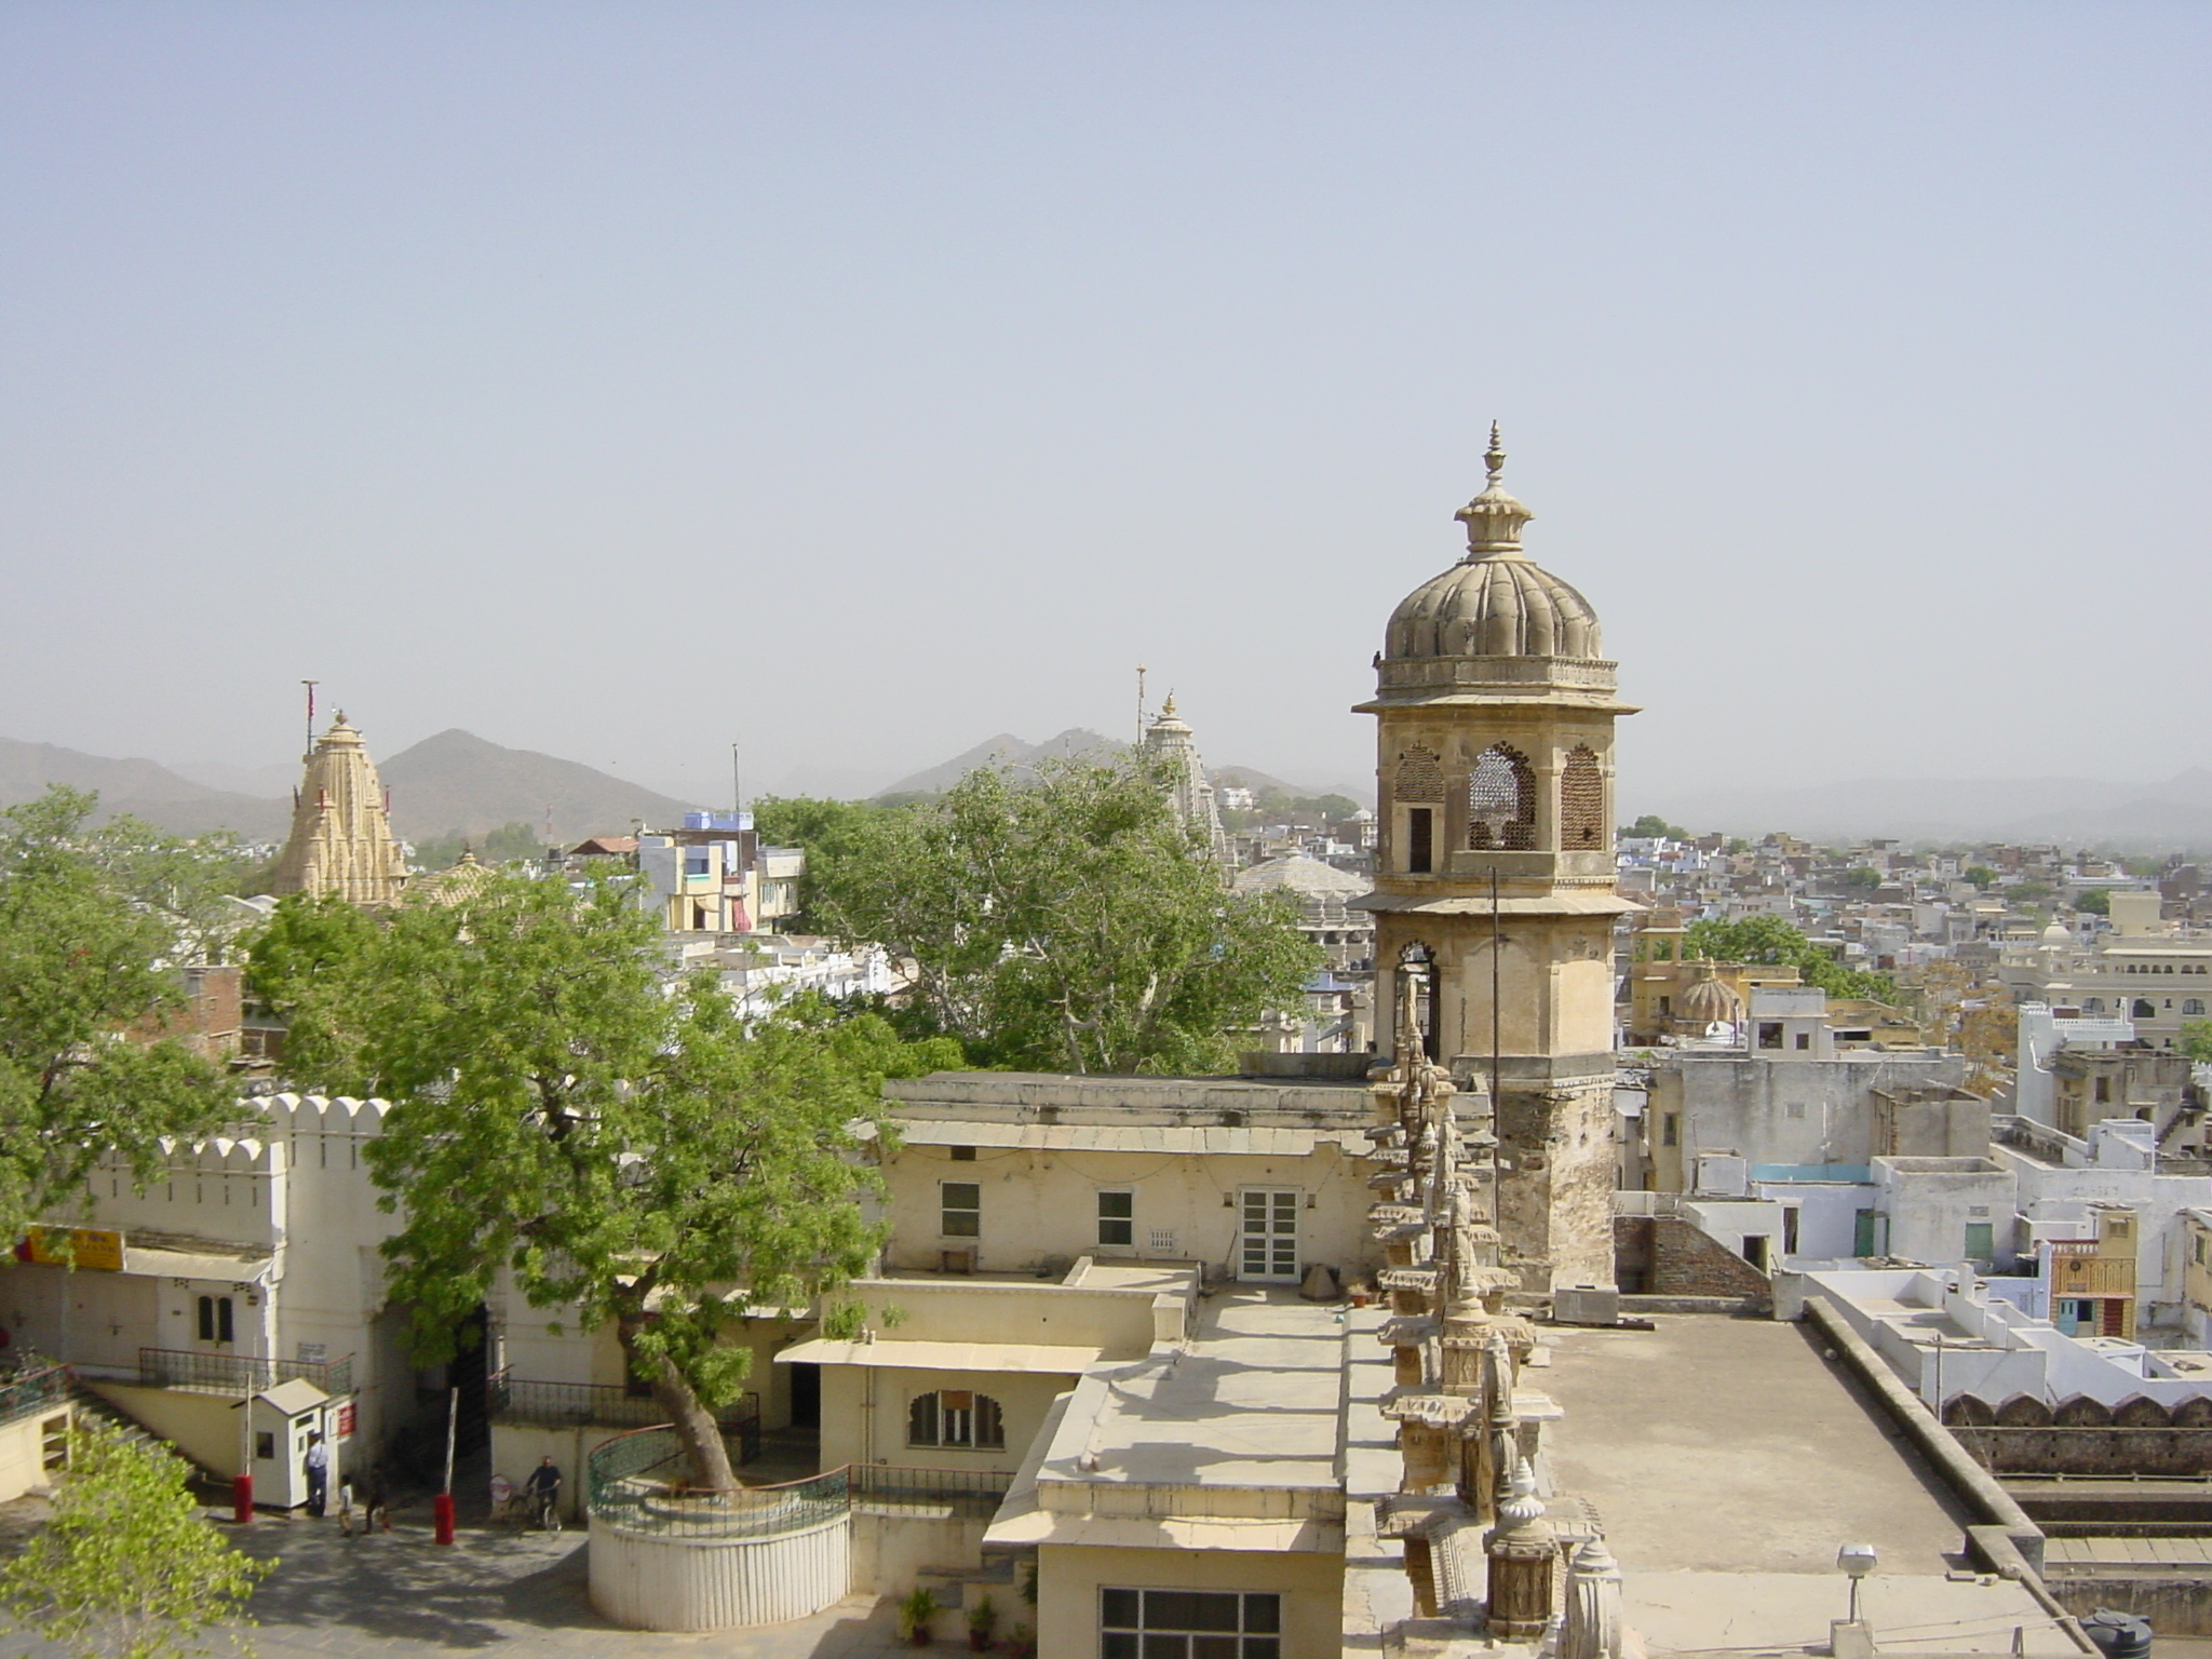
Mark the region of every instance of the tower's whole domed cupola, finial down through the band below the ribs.
[[1597, 611], [1522, 551], [1522, 526], [1535, 513], [1506, 493], [1495, 422], [1484, 462], [1489, 482], [1455, 513], [1467, 524], [1467, 557], [1422, 582], [1391, 613], [1378, 664], [1383, 695], [1484, 684], [1610, 692], [1613, 664], [1604, 661]]

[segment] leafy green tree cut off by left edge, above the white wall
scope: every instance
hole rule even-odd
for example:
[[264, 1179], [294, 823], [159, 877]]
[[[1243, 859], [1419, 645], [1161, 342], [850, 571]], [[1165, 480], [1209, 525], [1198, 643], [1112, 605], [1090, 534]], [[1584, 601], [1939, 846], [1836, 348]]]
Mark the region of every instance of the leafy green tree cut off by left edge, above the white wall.
[[[97, 801], [49, 790], [0, 812], [0, 1237], [75, 1194], [102, 1152], [150, 1179], [164, 1137], [217, 1133], [234, 1099], [173, 1037], [188, 947], [139, 885], [155, 832], [91, 827]], [[181, 858], [181, 854], [179, 854]], [[131, 1033], [131, 1035], [126, 1035]]]

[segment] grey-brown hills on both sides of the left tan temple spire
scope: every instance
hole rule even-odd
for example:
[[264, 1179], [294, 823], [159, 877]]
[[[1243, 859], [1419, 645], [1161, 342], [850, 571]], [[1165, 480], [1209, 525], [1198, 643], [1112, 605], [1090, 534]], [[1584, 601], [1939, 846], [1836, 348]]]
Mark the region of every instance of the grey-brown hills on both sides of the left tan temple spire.
[[[502, 748], [462, 730], [425, 737], [376, 770], [392, 792], [392, 827], [407, 841], [480, 836], [504, 823], [542, 827], [551, 812], [553, 838], [571, 843], [626, 834], [633, 821], [672, 825], [690, 810], [577, 761]], [[0, 739], [0, 805], [29, 801], [49, 783], [97, 790], [102, 816], [128, 812], [177, 834], [234, 830], [246, 841], [283, 841], [292, 827], [290, 790], [274, 799], [239, 794], [155, 761]]]

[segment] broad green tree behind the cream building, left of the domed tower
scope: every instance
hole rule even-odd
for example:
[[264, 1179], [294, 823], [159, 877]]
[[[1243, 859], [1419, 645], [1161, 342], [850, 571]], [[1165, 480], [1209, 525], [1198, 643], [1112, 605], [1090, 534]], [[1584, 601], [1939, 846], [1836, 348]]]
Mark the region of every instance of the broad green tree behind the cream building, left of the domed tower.
[[1287, 896], [1228, 891], [1141, 757], [969, 772], [863, 825], [818, 905], [911, 962], [925, 1029], [1004, 1066], [1217, 1071], [1323, 962]]

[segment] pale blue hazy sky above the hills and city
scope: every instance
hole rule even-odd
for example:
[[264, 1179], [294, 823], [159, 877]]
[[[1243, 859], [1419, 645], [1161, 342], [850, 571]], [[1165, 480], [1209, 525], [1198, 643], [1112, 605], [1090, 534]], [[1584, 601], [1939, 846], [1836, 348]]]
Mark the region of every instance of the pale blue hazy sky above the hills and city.
[[1495, 416], [1626, 807], [2163, 776], [2208, 86], [2194, 2], [15, 0], [0, 734], [863, 787], [1144, 661], [1356, 779]]

